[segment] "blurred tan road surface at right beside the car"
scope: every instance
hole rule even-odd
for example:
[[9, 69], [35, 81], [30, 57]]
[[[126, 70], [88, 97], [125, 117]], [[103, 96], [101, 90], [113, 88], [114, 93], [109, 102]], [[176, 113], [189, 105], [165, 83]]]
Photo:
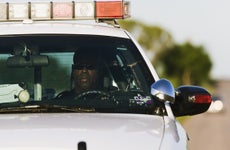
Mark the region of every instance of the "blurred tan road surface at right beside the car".
[[190, 150], [230, 149], [230, 81], [220, 81], [216, 92], [224, 100], [224, 112], [195, 115], [183, 124]]

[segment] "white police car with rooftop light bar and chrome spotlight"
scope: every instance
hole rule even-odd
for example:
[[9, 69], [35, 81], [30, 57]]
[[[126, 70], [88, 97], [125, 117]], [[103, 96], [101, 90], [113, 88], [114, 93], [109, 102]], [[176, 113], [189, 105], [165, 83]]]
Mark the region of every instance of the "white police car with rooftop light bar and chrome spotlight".
[[[116, 22], [129, 17], [129, 5], [0, 2], [1, 150], [187, 148], [175, 118], [205, 112], [211, 95], [158, 77]], [[74, 53], [86, 49], [100, 55], [101, 88], [60, 98], [73, 88]]]

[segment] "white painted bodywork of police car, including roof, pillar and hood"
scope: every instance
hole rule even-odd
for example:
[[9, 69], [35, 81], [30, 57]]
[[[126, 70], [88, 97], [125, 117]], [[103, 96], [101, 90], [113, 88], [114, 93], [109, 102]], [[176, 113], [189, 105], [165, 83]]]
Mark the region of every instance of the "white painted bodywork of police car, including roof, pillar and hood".
[[[159, 80], [144, 51], [130, 33], [105, 23], [79, 22], [0, 22], [0, 37], [65, 34], [131, 39], [152, 77]], [[87, 150], [181, 150], [187, 148], [188, 141], [186, 131], [169, 112], [162, 116], [84, 112], [0, 113], [0, 124], [1, 150], [84, 150], [79, 148], [82, 143]]]

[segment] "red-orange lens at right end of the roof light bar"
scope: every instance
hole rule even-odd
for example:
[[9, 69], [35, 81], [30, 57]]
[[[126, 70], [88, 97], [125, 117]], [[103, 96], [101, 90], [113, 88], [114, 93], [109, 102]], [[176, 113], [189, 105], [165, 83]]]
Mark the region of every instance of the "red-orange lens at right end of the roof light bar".
[[96, 2], [96, 17], [97, 18], [122, 18], [123, 3], [116, 2]]

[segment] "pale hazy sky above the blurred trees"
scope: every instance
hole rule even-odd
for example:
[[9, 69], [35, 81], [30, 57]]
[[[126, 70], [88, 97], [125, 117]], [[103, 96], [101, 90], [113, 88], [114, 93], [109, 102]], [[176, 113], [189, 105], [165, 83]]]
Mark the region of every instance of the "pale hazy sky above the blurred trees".
[[203, 46], [213, 63], [211, 77], [230, 79], [229, 0], [129, 1], [131, 19], [160, 26], [178, 44]]

